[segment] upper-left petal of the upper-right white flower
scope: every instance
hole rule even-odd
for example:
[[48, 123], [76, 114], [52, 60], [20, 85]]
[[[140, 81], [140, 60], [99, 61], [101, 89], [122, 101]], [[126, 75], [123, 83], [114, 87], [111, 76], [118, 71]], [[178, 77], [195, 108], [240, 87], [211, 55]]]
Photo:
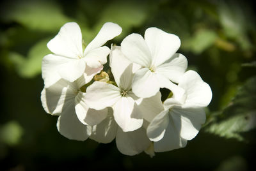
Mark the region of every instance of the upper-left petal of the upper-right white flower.
[[121, 50], [125, 57], [132, 63], [140, 64], [141, 66], [150, 67], [151, 54], [148, 46], [140, 34], [132, 33], [121, 43]]

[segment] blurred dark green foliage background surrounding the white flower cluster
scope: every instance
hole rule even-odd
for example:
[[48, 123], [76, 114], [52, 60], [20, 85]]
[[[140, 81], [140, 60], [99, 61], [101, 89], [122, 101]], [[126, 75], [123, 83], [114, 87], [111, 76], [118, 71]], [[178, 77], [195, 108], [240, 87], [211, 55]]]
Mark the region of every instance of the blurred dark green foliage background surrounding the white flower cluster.
[[[256, 29], [250, 1], [5, 1], [0, 11], [0, 170], [253, 170]], [[105, 22], [131, 33], [158, 27], [177, 34], [178, 52], [212, 88], [207, 123], [184, 149], [124, 156], [115, 140], [62, 137], [40, 102], [42, 58], [66, 22], [90, 42]], [[110, 43], [107, 44], [110, 46]], [[163, 96], [165, 91], [161, 90]]]

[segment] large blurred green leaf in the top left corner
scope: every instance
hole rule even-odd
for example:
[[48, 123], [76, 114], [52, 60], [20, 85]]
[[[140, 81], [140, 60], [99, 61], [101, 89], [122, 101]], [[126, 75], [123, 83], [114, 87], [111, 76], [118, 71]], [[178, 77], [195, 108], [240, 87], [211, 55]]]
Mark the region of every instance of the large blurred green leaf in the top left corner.
[[4, 13], [5, 20], [22, 24], [38, 31], [58, 31], [63, 24], [70, 22], [58, 4], [51, 1], [17, 1]]

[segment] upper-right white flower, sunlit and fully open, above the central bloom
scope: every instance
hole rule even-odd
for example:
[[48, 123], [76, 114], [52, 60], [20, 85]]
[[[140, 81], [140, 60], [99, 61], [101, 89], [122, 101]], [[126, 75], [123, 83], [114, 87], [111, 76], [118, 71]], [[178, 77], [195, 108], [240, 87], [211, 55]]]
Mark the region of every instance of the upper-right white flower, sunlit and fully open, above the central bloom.
[[[121, 43], [121, 50], [132, 63], [142, 68], [136, 71], [132, 91], [136, 96], [147, 98], [154, 96], [160, 87], [182, 96], [182, 91], [172, 82], [179, 82], [188, 61], [182, 54], [175, 54], [180, 47], [180, 39], [150, 27], [145, 31], [145, 40], [140, 34], [130, 34]], [[172, 82], [170, 82], [172, 80]]]

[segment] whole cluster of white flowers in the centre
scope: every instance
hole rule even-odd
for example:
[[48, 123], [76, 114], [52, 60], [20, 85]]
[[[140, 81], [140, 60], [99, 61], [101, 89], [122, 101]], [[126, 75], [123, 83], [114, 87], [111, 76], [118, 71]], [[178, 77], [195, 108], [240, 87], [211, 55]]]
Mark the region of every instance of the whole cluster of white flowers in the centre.
[[[42, 61], [45, 112], [59, 116], [64, 137], [115, 139], [123, 154], [153, 156], [185, 147], [205, 123], [211, 88], [198, 73], [186, 71], [186, 57], [176, 53], [179, 37], [150, 27], [144, 38], [133, 33], [120, 46], [103, 46], [121, 32], [108, 22], [86, 46], [75, 22], [61, 27], [47, 43], [53, 54]], [[113, 80], [102, 71], [108, 56]], [[171, 92], [163, 102], [160, 88]]]

